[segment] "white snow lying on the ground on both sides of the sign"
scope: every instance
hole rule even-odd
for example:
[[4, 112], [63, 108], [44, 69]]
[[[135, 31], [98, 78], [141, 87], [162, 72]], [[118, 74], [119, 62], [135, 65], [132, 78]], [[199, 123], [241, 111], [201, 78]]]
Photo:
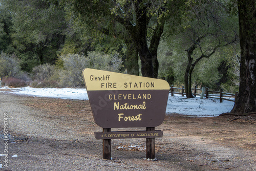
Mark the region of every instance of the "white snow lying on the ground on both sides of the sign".
[[[1, 89], [10, 89], [2, 87]], [[31, 95], [36, 97], [51, 97], [62, 99], [88, 100], [86, 89], [72, 89], [72, 88], [13, 88], [11, 93]], [[230, 112], [233, 108], [234, 102], [223, 100], [220, 103], [219, 99], [200, 99], [200, 97], [187, 99], [181, 95], [174, 95], [168, 97], [166, 113], [177, 113], [183, 115], [192, 115], [197, 117], [218, 116], [222, 113]]]

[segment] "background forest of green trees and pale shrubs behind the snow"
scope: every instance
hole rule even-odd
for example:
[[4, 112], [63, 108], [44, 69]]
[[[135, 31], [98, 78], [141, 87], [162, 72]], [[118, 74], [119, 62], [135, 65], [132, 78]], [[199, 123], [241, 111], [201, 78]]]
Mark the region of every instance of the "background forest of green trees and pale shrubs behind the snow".
[[1, 0], [0, 51], [4, 86], [83, 87], [94, 68], [239, 89], [233, 1]]

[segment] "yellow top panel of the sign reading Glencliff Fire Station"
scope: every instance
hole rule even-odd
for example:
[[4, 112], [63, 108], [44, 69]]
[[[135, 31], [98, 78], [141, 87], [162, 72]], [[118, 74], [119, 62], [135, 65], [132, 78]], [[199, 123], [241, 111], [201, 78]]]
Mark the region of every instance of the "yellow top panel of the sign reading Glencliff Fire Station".
[[83, 78], [89, 91], [169, 90], [169, 84], [165, 80], [89, 68], [83, 70]]

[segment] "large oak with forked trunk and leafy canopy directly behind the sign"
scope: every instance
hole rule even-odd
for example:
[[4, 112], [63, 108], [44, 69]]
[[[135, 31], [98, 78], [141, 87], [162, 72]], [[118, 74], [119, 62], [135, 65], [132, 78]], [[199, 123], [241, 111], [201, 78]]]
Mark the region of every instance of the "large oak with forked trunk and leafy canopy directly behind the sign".
[[[114, 36], [127, 37], [129, 39], [126, 41], [127, 50], [131, 54], [137, 52], [139, 54], [142, 76], [157, 78], [159, 67], [157, 49], [166, 18], [170, 16], [170, 11], [177, 11], [177, 7], [183, 4], [182, 1], [63, 0], [63, 2], [72, 4], [77, 15], [82, 16], [84, 22], [92, 24], [95, 29], [104, 31], [106, 28], [112, 28]], [[97, 27], [102, 24], [105, 24], [104, 27]], [[121, 26], [121, 29], [117, 29], [117, 26]], [[149, 29], [151, 31], [148, 31]], [[152, 33], [150, 36], [148, 36], [149, 32]], [[131, 47], [136, 50], [132, 50]]]

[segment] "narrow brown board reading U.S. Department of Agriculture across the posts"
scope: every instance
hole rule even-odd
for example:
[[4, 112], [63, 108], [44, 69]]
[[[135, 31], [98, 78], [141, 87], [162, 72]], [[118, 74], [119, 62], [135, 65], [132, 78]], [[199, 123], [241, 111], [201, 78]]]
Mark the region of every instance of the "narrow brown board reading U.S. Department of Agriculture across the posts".
[[163, 132], [156, 131], [124, 131], [124, 132], [95, 132], [96, 139], [124, 139], [124, 138], [156, 138], [163, 137]]

